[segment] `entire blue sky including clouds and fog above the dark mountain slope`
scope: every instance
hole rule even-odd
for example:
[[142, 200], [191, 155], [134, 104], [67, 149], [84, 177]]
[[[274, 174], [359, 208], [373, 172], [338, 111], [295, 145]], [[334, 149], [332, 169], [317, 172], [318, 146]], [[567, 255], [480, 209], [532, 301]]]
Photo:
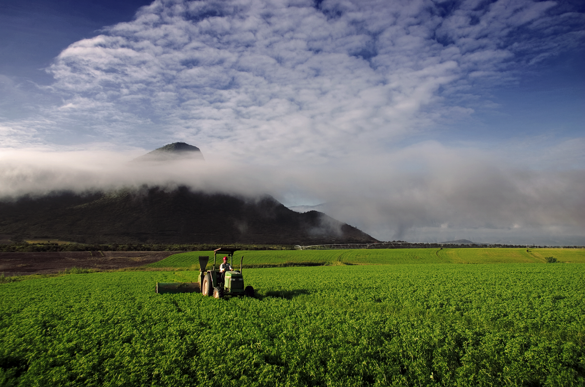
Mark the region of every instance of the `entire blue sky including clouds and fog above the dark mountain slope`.
[[[0, 196], [188, 184], [585, 244], [584, 43], [573, 0], [4, 0]], [[129, 163], [176, 141], [205, 163]]]

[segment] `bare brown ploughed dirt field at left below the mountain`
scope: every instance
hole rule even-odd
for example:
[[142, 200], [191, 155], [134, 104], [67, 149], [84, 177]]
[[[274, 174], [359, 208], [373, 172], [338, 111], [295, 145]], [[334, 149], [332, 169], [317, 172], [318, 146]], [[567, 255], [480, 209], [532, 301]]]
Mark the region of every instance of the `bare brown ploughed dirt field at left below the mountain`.
[[13, 275], [51, 274], [73, 267], [119, 269], [163, 260], [181, 251], [70, 251], [57, 253], [0, 253], [0, 272]]

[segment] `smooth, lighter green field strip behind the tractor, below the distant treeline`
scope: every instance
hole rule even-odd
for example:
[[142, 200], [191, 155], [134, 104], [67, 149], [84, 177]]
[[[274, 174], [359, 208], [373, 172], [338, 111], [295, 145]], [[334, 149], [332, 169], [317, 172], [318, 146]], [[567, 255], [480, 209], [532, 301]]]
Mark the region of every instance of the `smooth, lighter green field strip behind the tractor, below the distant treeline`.
[[[193, 251], [171, 255], [148, 265], [154, 268], [198, 269], [199, 255], [208, 255], [213, 264], [213, 251]], [[559, 262], [585, 263], [585, 250], [574, 248], [397, 248], [373, 250], [283, 250], [238, 251], [234, 264], [239, 268], [240, 257], [244, 268], [286, 266], [292, 264], [493, 264], [493, 263], [545, 263], [546, 257]], [[218, 264], [221, 263], [218, 258]]]

